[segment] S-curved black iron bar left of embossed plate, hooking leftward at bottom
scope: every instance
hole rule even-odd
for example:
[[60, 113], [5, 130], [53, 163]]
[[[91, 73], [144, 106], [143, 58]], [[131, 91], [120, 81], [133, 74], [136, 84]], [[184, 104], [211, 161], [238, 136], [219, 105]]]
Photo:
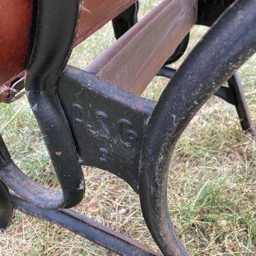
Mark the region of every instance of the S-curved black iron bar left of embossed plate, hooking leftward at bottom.
[[39, 0], [35, 43], [26, 74], [26, 93], [62, 192], [30, 180], [13, 163], [1, 139], [0, 178], [25, 200], [48, 209], [73, 207], [84, 196], [84, 178], [56, 83], [76, 38], [80, 0]]

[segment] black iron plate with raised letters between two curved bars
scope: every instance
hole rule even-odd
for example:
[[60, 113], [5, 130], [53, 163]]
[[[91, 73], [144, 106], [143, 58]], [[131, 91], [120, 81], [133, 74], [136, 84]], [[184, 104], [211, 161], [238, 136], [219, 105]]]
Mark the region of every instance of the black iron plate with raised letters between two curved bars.
[[74, 67], [58, 84], [80, 164], [108, 170], [138, 192], [143, 131], [155, 102]]

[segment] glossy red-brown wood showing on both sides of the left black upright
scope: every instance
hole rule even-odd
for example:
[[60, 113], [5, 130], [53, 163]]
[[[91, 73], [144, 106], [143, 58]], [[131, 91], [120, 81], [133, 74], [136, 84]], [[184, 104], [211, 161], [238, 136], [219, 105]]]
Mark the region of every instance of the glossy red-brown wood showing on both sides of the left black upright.
[[[76, 45], [104, 26], [136, 0], [86, 0], [81, 6], [81, 19]], [[24, 76], [29, 58], [33, 0], [1, 0], [0, 4], [0, 102], [8, 96], [8, 87]]]

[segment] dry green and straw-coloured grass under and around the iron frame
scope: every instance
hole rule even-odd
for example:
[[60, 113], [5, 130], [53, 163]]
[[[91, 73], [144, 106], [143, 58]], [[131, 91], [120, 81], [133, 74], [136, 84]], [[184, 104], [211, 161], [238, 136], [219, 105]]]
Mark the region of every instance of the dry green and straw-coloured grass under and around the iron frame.
[[[157, 2], [141, 1], [140, 15]], [[187, 54], [205, 31], [193, 29]], [[114, 41], [111, 24], [107, 24], [74, 50], [70, 65], [85, 68]], [[253, 56], [239, 74], [256, 123], [255, 65]], [[143, 96], [157, 100], [166, 83], [167, 79], [156, 77]], [[20, 168], [31, 179], [58, 188], [27, 100], [1, 104], [0, 120], [1, 134]], [[235, 109], [213, 97], [182, 135], [170, 168], [170, 214], [191, 255], [256, 255], [255, 160], [255, 141], [241, 131]], [[86, 195], [77, 209], [157, 250], [143, 221], [138, 195], [108, 172], [86, 167], [84, 175]], [[56, 225], [16, 212], [12, 226], [0, 234], [0, 255], [115, 254]]]

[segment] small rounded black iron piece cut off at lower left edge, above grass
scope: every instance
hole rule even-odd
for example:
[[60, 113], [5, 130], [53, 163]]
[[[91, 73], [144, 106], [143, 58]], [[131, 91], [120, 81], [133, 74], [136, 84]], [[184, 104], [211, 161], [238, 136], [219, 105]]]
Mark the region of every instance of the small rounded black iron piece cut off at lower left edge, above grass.
[[[1, 156], [0, 156], [1, 157]], [[0, 180], [0, 231], [3, 231], [10, 225], [13, 216], [12, 199], [8, 188]]]

